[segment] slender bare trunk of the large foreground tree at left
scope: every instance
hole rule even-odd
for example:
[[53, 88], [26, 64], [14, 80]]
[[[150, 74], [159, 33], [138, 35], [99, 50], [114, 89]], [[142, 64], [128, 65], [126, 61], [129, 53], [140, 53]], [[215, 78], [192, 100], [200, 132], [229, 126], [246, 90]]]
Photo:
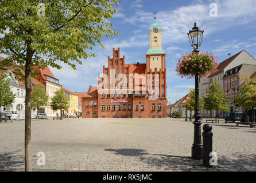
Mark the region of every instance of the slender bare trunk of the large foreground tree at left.
[[32, 69], [32, 50], [28, 49], [25, 63], [25, 171], [32, 171], [31, 156], [31, 69]]

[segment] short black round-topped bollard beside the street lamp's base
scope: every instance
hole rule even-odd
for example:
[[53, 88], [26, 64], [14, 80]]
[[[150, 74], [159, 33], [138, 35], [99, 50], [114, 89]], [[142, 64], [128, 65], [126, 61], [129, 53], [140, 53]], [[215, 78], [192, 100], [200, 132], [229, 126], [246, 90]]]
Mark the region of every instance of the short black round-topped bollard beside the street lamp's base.
[[203, 130], [203, 166], [211, 168], [212, 165], [210, 164], [210, 159], [212, 156], [210, 156], [210, 153], [212, 152], [212, 126], [205, 124]]

